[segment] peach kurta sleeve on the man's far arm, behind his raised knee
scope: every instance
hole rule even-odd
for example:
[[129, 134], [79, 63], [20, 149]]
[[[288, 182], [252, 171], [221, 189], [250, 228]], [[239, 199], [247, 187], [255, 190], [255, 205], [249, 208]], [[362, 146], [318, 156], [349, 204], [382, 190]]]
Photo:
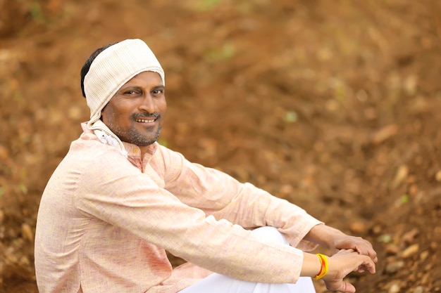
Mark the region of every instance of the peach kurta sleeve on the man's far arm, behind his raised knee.
[[189, 162], [178, 152], [163, 147], [160, 152], [166, 189], [180, 201], [244, 228], [273, 226], [292, 246], [306, 251], [316, 248], [303, 238], [322, 222], [304, 209], [251, 183], [240, 183], [221, 171]]

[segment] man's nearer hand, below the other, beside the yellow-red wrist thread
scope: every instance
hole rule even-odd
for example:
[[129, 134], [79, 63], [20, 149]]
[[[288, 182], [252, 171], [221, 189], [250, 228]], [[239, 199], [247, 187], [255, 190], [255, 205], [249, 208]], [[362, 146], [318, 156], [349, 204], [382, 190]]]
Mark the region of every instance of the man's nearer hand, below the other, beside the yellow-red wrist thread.
[[354, 252], [354, 249], [341, 249], [328, 258], [329, 270], [323, 277], [326, 288], [331, 291], [354, 293], [355, 287], [343, 280], [347, 274], [363, 268], [375, 273], [375, 263], [371, 257]]

